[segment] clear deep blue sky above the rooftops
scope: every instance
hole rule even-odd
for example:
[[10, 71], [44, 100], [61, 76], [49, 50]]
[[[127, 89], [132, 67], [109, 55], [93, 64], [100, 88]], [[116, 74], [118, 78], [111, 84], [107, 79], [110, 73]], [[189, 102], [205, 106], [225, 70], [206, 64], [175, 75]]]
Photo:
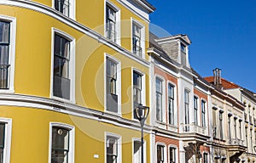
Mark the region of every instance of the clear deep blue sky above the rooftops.
[[[190, 65], [201, 76], [222, 76], [256, 93], [256, 0], [148, 0], [151, 24], [187, 34]], [[155, 31], [155, 30], [154, 30]], [[159, 31], [159, 30], [157, 30]]]

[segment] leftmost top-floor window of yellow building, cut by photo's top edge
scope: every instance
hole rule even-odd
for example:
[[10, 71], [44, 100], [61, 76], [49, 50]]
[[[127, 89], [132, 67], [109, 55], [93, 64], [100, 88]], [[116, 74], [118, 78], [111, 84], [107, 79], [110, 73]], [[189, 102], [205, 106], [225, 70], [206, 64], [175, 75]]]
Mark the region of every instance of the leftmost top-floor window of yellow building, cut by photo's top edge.
[[55, 10], [74, 19], [75, 0], [53, 0]]

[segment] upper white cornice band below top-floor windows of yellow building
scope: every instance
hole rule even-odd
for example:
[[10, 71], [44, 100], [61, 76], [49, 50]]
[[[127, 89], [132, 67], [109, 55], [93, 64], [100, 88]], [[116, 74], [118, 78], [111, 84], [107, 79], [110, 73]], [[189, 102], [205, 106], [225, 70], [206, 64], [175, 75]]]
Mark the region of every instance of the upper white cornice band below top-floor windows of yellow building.
[[20, 8], [28, 8], [42, 14], [47, 14], [50, 17], [55, 18], [56, 20], [59, 20], [62, 23], [73, 27], [73, 29], [78, 30], [84, 33], [85, 35], [96, 39], [98, 42], [105, 44], [109, 48], [113, 48], [118, 53], [124, 54], [126, 57], [133, 59], [144, 66], [149, 67], [149, 62], [147, 60], [137, 57], [136, 55], [131, 53], [129, 50], [119, 46], [115, 42], [109, 41], [106, 37], [103, 37], [101, 34], [91, 30], [89, 27], [80, 24], [76, 20], [73, 20], [65, 16], [64, 14], [61, 14], [60, 12], [56, 11], [54, 8], [50, 8], [49, 6], [46, 6], [41, 3], [36, 3], [32, 1], [21, 1], [21, 0], [16, 0], [16, 1], [1, 0], [0, 5], [9, 5], [9, 6], [16, 6]]

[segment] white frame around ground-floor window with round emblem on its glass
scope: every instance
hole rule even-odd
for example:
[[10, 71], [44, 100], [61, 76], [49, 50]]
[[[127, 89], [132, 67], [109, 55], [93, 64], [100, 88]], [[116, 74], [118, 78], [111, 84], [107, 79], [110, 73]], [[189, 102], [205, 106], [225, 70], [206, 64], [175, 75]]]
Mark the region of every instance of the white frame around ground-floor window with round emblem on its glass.
[[61, 123], [61, 122], [49, 122], [49, 160], [48, 162], [51, 163], [52, 128], [54, 126], [67, 128], [69, 130], [68, 163], [74, 163], [75, 127], [71, 125], [67, 125], [65, 123]]

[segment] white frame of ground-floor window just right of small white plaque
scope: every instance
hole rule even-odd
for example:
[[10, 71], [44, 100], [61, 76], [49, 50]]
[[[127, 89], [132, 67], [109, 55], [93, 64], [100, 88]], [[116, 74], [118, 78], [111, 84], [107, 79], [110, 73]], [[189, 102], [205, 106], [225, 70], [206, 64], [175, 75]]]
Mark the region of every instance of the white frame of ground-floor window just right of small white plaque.
[[105, 141], [104, 141], [104, 155], [105, 155], [105, 160], [104, 162], [107, 163], [107, 140], [108, 137], [115, 138], [117, 140], [117, 161], [118, 163], [122, 163], [122, 137], [120, 135], [117, 135], [115, 133], [111, 132], [105, 132]]

